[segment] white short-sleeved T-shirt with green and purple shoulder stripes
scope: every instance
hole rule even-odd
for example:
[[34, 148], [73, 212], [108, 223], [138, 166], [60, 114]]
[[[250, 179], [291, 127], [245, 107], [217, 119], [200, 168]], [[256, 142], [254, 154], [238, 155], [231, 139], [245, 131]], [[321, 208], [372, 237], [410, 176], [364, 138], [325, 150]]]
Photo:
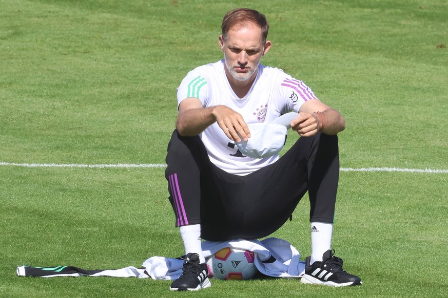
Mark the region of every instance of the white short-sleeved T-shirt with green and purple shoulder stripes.
[[[316, 98], [302, 81], [278, 68], [261, 64], [249, 92], [244, 98], [239, 98], [230, 87], [224, 67], [223, 59], [190, 71], [177, 90], [178, 107], [185, 98], [196, 97], [204, 108], [226, 105], [240, 113], [246, 123], [257, 123], [271, 122], [290, 111], [299, 112], [305, 101]], [[217, 122], [199, 136], [210, 161], [227, 173], [247, 175], [279, 158], [278, 155], [260, 159], [242, 155]]]

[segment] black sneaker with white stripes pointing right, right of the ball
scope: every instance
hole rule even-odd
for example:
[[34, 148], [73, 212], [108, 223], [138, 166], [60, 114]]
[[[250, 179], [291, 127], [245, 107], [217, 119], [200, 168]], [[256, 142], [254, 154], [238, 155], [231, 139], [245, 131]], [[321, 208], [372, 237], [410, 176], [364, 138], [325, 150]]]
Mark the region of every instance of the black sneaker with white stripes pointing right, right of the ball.
[[314, 262], [313, 265], [309, 265], [311, 257], [307, 257], [305, 274], [302, 276], [301, 282], [333, 287], [362, 285], [358, 276], [349, 274], [342, 269], [342, 259], [335, 257], [334, 253], [334, 249], [328, 249], [323, 254], [323, 261]]

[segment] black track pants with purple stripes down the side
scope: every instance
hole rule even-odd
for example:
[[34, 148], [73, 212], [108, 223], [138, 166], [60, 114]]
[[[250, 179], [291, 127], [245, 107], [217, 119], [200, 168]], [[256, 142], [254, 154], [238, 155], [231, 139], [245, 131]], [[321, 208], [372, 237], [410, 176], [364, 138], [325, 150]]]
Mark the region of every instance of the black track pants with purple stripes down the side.
[[246, 176], [210, 162], [201, 139], [174, 131], [165, 177], [176, 226], [201, 224], [212, 241], [257, 239], [279, 229], [308, 191], [310, 221], [333, 222], [339, 180], [338, 137], [299, 138], [275, 163]]

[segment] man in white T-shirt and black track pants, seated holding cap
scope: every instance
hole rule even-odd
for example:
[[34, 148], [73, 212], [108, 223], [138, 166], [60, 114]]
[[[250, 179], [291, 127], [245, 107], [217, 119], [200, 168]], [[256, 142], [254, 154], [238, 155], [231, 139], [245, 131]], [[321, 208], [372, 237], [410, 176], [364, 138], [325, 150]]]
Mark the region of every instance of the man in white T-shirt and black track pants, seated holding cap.
[[[201, 239], [258, 239], [279, 229], [308, 191], [311, 256], [302, 283], [361, 285], [342, 269], [331, 248], [339, 179], [337, 134], [342, 115], [306, 84], [260, 61], [270, 47], [265, 16], [251, 9], [228, 12], [219, 45], [224, 59], [190, 71], [178, 88], [179, 114], [166, 157], [169, 200], [185, 247], [183, 273], [171, 290], [211, 286]], [[288, 112], [300, 138], [279, 158], [242, 144]], [[265, 139], [263, 143], [271, 140]], [[281, 149], [281, 148], [280, 148]]]

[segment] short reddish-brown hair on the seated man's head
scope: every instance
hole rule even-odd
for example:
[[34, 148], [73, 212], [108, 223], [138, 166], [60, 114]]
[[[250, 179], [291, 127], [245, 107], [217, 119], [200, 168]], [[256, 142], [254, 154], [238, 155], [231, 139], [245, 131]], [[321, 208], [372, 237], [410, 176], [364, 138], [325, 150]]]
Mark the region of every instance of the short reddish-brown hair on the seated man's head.
[[253, 23], [260, 27], [263, 42], [265, 42], [269, 31], [269, 23], [266, 16], [249, 8], [237, 8], [226, 13], [221, 24], [223, 39], [226, 39], [230, 29], [244, 27], [247, 23]]

